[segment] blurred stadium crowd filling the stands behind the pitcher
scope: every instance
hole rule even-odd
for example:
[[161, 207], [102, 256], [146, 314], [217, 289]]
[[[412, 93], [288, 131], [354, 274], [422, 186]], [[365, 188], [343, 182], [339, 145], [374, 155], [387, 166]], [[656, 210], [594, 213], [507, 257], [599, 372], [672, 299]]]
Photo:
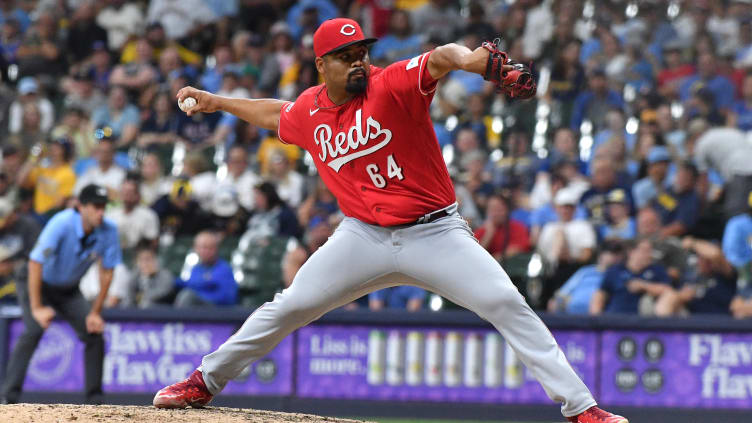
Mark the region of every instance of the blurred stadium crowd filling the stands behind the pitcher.
[[[293, 100], [337, 16], [380, 38], [377, 66], [497, 37], [534, 64], [534, 100], [455, 72], [431, 106], [460, 213], [533, 306], [752, 316], [749, 0], [0, 0], [0, 301], [89, 183], [124, 253], [108, 306], [288, 286], [342, 218], [312, 159], [175, 93]], [[347, 307], [429, 303], [395, 287]]]

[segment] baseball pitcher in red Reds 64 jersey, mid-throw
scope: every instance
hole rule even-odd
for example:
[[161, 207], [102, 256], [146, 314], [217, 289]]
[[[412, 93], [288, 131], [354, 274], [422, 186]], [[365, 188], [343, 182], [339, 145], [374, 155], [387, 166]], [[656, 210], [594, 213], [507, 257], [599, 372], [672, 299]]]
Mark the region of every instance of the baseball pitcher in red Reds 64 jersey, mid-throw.
[[295, 329], [372, 291], [409, 283], [491, 322], [569, 421], [628, 423], [595, 406], [551, 333], [457, 213], [429, 117], [436, 84], [451, 71], [483, 75], [507, 96], [529, 98], [529, 69], [493, 43], [474, 51], [447, 44], [381, 69], [368, 57], [375, 41], [351, 19], [321, 24], [313, 47], [325, 83], [294, 102], [178, 92], [189, 115], [229, 112], [307, 150], [346, 217], [289, 288], [188, 379], [159, 391], [154, 405], [201, 407]]

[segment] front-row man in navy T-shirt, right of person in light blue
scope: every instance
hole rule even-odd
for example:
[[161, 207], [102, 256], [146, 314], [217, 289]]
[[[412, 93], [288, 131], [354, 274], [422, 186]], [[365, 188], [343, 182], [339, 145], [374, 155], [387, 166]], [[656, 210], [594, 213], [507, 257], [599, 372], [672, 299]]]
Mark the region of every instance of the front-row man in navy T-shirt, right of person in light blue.
[[655, 299], [655, 307], [646, 314], [670, 316], [675, 312], [676, 291], [666, 269], [653, 261], [653, 242], [639, 241], [627, 255], [627, 262], [606, 270], [600, 289], [590, 302], [590, 314], [638, 314], [641, 298]]

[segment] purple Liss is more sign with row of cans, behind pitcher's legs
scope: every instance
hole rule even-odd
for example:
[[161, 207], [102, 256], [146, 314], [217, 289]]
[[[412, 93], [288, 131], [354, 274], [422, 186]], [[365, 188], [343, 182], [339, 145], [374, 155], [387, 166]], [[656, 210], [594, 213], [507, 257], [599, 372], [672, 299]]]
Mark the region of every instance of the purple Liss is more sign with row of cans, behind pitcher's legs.
[[[596, 335], [554, 336], [593, 386]], [[298, 331], [297, 348], [300, 397], [550, 403], [495, 331], [317, 325]]]

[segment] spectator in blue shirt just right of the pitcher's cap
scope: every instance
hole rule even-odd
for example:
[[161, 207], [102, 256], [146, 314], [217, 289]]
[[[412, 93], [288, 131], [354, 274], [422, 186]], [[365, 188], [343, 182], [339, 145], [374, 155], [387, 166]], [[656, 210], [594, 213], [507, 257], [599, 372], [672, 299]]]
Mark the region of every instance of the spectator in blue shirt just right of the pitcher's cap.
[[371, 59], [375, 63], [410, 59], [421, 53], [422, 44], [421, 36], [412, 32], [407, 11], [397, 9], [389, 18], [389, 33], [373, 46]]

